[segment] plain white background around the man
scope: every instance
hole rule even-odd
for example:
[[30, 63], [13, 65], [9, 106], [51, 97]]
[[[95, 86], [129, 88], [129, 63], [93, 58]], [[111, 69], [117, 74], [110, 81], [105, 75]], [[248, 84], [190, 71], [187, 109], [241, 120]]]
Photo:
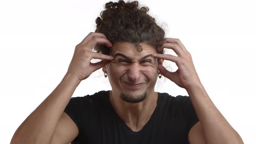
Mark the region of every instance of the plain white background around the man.
[[[75, 46], [90, 32], [106, 0], [0, 1], [0, 137], [10, 140], [66, 74]], [[245, 144], [255, 144], [255, 39], [253, 0], [141, 0], [166, 37], [191, 53], [200, 80]], [[170, 52], [173, 52], [172, 50]], [[173, 71], [177, 66], [170, 62]], [[73, 97], [110, 90], [100, 70]], [[187, 95], [169, 79], [156, 91]]]

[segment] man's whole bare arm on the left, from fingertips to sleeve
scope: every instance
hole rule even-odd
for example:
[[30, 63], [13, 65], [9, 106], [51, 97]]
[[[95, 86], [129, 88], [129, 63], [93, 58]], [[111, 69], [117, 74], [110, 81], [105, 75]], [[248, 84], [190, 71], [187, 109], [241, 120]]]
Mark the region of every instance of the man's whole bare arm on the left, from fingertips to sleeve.
[[[113, 59], [112, 56], [92, 52], [96, 44], [112, 46], [104, 34], [89, 33], [75, 47], [65, 77], [38, 108], [23, 121], [15, 131], [11, 144], [50, 144], [52, 139], [54, 143], [66, 143], [77, 135], [78, 128], [63, 111], [79, 83]], [[102, 59], [102, 61], [91, 63], [92, 59]], [[59, 140], [59, 137], [65, 137], [65, 140]]]

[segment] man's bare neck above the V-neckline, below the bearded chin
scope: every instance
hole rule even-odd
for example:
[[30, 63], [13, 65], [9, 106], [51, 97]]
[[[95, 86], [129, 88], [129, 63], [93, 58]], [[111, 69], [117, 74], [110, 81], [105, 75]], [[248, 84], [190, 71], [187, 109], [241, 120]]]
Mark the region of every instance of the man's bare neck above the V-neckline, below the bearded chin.
[[138, 103], [128, 103], [120, 98], [120, 94], [110, 91], [109, 100], [118, 116], [133, 131], [139, 131], [151, 118], [157, 105], [158, 93], [150, 92], [146, 99]]

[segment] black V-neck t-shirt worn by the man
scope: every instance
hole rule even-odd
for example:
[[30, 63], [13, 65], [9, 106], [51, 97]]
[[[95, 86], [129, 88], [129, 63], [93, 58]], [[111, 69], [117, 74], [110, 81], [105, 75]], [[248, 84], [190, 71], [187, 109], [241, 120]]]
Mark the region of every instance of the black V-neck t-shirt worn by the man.
[[71, 144], [188, 144], [188, 132], [199, 121], [189, 96], [160, 92], [151, 118], [138, 132], [116, 114], [109, 91], [73, 97], [64, 111], [79, 130]]

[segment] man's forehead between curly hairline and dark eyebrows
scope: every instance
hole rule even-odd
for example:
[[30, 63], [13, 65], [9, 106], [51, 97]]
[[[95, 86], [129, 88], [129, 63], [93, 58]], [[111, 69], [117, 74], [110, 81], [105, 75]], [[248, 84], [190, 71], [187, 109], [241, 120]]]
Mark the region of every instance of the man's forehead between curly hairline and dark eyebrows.
[[[139, 46], [141, 47], [139, 48]], [[147, 54], [153, 55], [157, 53], [156, 48], [147, 43], [139, 43], [139, 46], [128, 42], [118, 42], [112, 46], [110, 55], [115, 56], [116, 53], [122, 53], [126, 56], [145, 56]], [[138, 50], [138, 48], [142, 50]]]

